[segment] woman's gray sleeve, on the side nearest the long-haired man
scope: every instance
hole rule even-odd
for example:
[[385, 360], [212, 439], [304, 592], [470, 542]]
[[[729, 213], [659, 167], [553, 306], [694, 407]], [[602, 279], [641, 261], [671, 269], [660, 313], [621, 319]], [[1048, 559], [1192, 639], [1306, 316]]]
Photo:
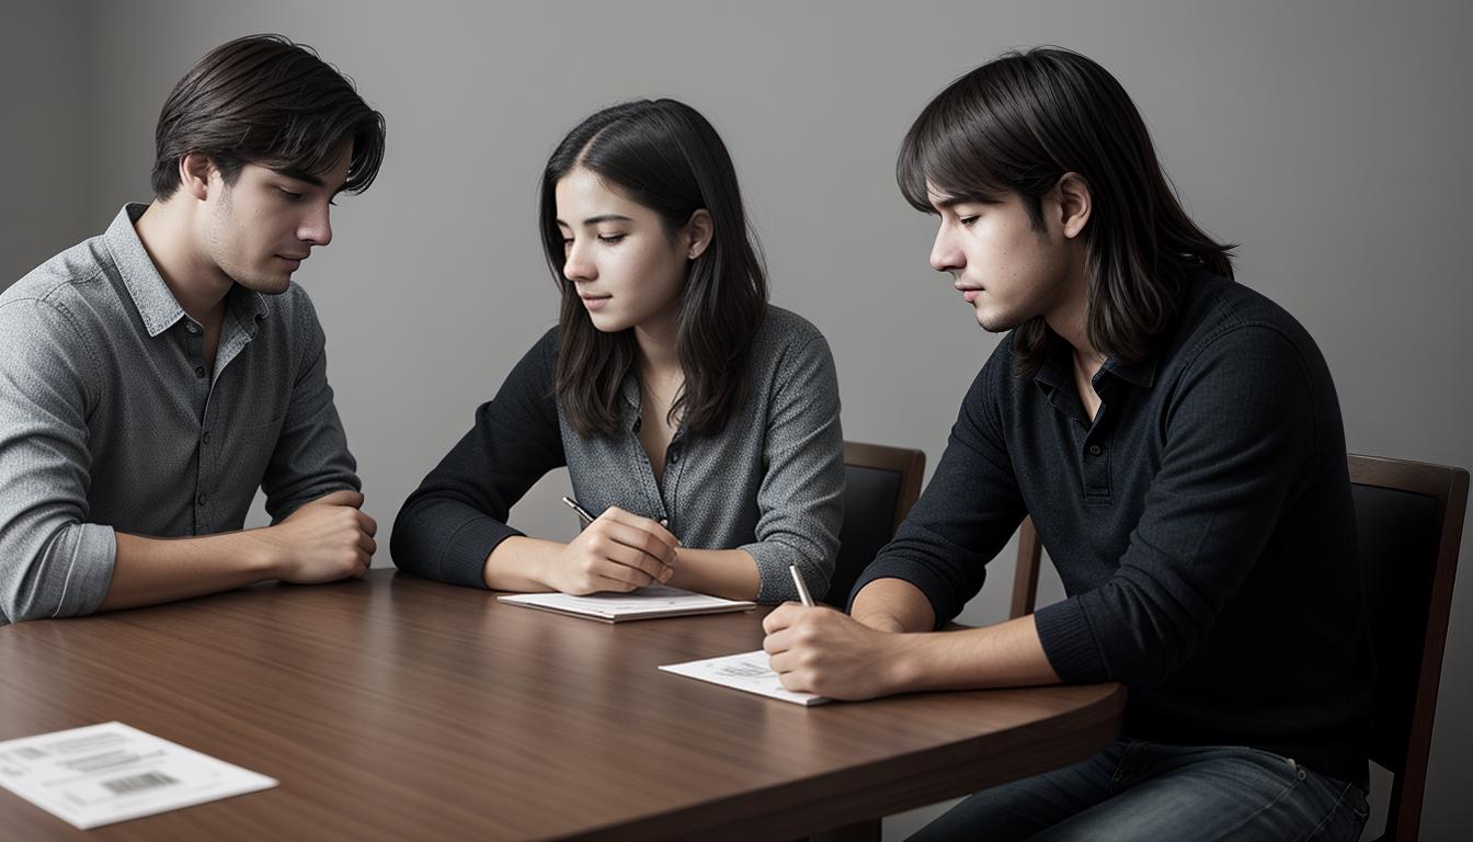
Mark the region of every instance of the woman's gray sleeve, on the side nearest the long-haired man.
[[757, 562], [757, 602], [766, 605], [798, 597], [790, 565], [809, 591], [828, 591], [844, 521], [838, 376], [823, 336], [784, 354], [773, 383], [757, 540], [739, 547]]

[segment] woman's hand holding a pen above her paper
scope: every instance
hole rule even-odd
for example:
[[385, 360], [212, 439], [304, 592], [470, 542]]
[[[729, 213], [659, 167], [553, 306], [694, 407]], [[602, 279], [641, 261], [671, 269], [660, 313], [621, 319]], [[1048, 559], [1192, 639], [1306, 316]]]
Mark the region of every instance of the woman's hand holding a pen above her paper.
[[657, 521], [608, 507], [549, 559], [541, 578], [576, 596], [632, 591], [669, 581], [679, 544]]

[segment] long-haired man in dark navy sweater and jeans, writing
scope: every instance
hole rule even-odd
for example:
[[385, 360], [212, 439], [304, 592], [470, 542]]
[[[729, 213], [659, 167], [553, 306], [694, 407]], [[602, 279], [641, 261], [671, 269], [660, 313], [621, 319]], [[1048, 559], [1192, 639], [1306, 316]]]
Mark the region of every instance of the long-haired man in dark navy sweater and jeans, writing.
[[[1122, 681], [1124, 734], [963, 801], [922, 839], [1354, 839], [1373, 664], [1345, 435], [1309, 335], [1237, 285], [1097, 63], [1010, 53], [897, 165], [987, 330], [929, 487], [850, 616], [784, 606], [785, 686], [841, 699]], [[1024, 515], [1068, 599], [931, 634]]]

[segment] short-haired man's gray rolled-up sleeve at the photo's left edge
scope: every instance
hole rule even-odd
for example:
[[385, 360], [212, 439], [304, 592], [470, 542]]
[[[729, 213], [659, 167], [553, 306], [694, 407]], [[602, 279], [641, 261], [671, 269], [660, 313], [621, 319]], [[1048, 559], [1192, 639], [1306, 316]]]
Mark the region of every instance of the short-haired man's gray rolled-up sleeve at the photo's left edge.
[[97, 372], [65, 310], [0, 304], [0, 622], [91, 613], [116, 535], [87, 522]]

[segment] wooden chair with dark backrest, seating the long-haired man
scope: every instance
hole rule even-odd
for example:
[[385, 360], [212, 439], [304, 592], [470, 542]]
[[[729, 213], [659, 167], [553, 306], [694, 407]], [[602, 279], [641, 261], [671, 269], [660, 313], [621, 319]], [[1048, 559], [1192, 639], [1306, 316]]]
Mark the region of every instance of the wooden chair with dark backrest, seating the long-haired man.
[[[1416, 839], [1469, 472], [1374, 456], [1351, 454], [1346, 460], [1365, 616], [1376, 647], [1370, 756], [1395, 776], [1380, 839]], [[1040, 550], [1038, 532], [1025, 519], [1018, 538], [1012, 616], [1033, 612]]]

